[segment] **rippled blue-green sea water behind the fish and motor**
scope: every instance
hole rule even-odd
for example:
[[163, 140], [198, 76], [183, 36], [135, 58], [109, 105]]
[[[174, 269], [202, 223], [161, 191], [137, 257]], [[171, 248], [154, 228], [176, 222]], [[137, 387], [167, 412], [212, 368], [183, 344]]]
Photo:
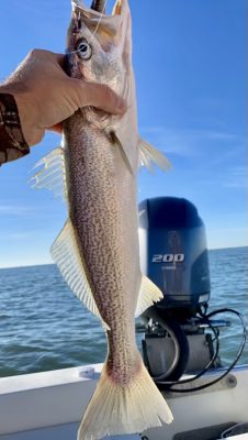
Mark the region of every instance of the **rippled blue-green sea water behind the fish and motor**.
[[[210, 309], [230, 307], [247, 319], [247, 248], [210, 251]], [[219, 317], [221, 318], [221, 317]], [[241, 327], [222, 330], [221, 355], [236, 356]], [[140, 343], [140, 336], [138, 337]], [[64, 283], [55, 265], [0, 270], [0, 376], [103, 362], [104, 332]], [[248, 363], [248, 348], [239, 360]]]

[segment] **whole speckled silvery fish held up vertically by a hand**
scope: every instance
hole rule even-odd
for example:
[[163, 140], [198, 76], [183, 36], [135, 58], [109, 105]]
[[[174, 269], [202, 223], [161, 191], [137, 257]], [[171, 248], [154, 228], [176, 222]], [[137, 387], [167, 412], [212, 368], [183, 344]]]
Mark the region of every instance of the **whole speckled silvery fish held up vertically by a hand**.
[[138, 134], [128, 1], [117, 0], [109, 15], [93, 3], [97, 10], [72, 0], [67, 73], [108, 85], [127, 110], [122, 117], [92, 107], [76, 111], [63, 124], [61, 146], [37, 163], [34, 176], [36, 188], [66, 200], [68, 220], [52, 256], [106, 334], [106, 360], [78, 440], [143, 432], [173, 419], [135, 339], [135, 317], [162, 298], [139, 267], [137, 172], [153, 170], [153, 163], [167, 169], [169, 162]]

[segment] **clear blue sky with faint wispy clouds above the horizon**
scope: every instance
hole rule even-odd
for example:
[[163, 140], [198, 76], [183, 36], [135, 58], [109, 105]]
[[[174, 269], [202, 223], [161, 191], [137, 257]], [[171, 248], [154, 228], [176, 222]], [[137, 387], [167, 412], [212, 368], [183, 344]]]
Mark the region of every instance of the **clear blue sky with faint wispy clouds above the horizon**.
[[[185, 197], [211, 249], [246, 245], [246, 1], [129, 4], [139, 131], [173, 165], [167, 174], [143, 169], [138, 197]], [[69, 18], [69, 0], [2, 0], [0, 78], [34, 47], [64, 52]], [[66, 210], [29, 179], [58, 144], [48, 133], [29, 156], [0, 168], [0, 267], [52, 262]]]

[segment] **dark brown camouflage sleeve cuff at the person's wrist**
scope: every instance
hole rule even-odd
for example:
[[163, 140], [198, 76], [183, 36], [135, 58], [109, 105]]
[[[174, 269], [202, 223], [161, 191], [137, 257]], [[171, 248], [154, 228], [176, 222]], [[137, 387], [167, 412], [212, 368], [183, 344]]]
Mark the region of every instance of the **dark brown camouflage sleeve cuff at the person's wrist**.
[[30, 153], [12, 95], [0, 94], [0, 165]]

